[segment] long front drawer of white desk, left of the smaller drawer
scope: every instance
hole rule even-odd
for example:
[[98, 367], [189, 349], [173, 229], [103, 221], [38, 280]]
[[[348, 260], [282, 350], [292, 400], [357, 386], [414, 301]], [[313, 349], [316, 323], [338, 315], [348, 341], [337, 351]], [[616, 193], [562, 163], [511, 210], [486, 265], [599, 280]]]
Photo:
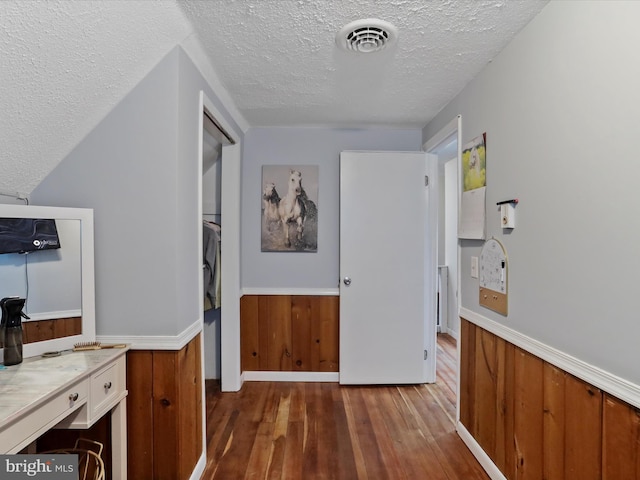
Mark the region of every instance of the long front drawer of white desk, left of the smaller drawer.
[[[51, 399], [29, 412], [25, 417], [18, 418], [7, 425], [0, 432], [0, 451], [16, 453], [27, 446], [42, 433], [49, 430], [61, 419], [78, 410], [87, 403], [89, 382], [81, 380], [65, 388]], [[33, 432], [27, 438], [25, 432]]]

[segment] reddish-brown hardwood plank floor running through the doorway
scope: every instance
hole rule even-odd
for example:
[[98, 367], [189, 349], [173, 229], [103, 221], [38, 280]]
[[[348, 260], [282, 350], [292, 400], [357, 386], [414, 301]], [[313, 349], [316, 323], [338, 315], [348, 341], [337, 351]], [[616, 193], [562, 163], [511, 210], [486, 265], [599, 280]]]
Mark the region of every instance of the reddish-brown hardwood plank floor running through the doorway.
[[207, 388], [203, 479], [487, 479], [454, 428], [456, 344], [432, 385], [245, 382]]

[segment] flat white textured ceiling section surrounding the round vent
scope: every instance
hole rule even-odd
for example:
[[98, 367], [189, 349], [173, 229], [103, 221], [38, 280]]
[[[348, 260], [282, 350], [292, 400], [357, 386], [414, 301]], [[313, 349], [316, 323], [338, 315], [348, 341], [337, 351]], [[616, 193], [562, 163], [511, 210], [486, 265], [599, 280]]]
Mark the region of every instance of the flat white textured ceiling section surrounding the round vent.
[[[424, 126], [546, 1], [186, 0], [220, 79], [251, 125]], [[399, 30], [358, 55], [335, 34], [361, 18]]]

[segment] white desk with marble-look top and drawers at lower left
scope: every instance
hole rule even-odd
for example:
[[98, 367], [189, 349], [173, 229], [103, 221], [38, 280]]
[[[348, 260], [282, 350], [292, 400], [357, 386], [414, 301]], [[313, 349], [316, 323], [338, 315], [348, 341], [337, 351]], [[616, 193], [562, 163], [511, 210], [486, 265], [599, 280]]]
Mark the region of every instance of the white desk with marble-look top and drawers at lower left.
[[0, 370], [0, 453], [54, 427], [89, 428], [111, 411], [113, 479], [126, 480], [126, 351], [68, 351]]

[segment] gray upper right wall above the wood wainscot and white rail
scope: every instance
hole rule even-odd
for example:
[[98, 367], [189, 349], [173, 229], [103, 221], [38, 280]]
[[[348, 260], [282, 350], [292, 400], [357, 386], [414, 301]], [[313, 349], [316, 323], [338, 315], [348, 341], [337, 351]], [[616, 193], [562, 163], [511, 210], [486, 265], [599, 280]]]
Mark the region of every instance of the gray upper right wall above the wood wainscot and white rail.
[[[509, 256], [509, 316], [461, 305], [636, 384], [640, 3], [551, 2], [423, 131], [487, 133], [487, 231]], [[517, 197], [516, 228], [496, 202]]]

